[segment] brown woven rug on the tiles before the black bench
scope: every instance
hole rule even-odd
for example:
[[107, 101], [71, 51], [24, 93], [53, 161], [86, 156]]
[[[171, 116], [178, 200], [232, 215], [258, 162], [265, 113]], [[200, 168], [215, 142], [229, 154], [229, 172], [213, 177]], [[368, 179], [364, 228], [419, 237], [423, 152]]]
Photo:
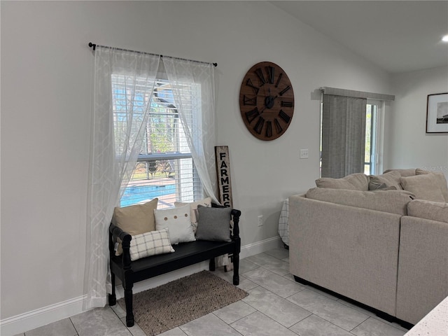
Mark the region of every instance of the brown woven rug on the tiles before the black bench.
[[[202, 271], [134, 294], [134, 320], [146, 335], [158, 335], [247, 295], [232, 283]], [[125, 309], [124, 298], [118, 304]]]

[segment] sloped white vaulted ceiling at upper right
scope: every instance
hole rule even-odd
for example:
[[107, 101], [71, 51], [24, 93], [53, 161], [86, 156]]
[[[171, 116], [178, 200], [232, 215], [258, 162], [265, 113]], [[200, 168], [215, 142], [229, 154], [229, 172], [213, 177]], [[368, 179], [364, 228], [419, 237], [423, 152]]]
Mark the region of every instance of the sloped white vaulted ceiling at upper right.
[[391, 73], [448, 65], [448, 1], [270, 1]]

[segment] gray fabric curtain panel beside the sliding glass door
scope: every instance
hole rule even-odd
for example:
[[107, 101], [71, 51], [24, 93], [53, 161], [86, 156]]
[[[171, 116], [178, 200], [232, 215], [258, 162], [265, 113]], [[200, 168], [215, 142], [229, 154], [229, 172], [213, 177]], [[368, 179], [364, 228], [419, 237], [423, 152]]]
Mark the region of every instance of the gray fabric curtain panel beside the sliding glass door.
[[321, 177], [364, 172], [367, 99], [323, 94]]

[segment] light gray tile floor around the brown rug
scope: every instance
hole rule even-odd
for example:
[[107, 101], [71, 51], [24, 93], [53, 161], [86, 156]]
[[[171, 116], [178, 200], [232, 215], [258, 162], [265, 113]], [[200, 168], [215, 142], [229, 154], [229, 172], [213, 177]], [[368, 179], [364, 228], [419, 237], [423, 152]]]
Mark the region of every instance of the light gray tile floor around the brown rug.
[[[232, 272], [216, 271], [231, 281]], [[239, 287], [249, 295], [161, 336], [402, 336], [407, 330], [328, 293], [295, 282], [288, 250], [276, 248], [240, 261]], [[19, 336], [145, 336], [127, 328], [118, 305], [93, 309]]]

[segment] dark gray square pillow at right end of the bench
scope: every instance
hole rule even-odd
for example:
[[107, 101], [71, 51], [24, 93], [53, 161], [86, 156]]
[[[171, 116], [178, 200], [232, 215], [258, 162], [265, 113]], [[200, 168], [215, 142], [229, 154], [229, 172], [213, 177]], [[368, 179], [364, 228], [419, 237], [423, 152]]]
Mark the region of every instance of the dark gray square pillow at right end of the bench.
[[213, 241], [231, 241], [230, 208], [209, 208], [197, 206], [199, 221], [197, 222], [196, 239]]

